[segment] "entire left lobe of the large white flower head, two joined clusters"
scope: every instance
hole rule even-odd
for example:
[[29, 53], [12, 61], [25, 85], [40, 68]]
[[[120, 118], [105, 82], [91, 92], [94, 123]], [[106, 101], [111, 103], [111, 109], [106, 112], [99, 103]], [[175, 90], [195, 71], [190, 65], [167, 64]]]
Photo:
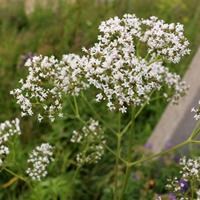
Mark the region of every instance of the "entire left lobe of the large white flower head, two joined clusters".
[[[63, 55], [58, 61], [53, 56], [33, 56], [25, 63], [28, 76], [20, 80], [21, 87], [11, 91], [20, 105], [22, 116], [38, 113], [51, 121], [62, 117], [62, 94], [78, 95], [88, 84], [84, 81], [86, 58], [75, 54]], [[34, 111], [35, 109], [35, 111]]]

